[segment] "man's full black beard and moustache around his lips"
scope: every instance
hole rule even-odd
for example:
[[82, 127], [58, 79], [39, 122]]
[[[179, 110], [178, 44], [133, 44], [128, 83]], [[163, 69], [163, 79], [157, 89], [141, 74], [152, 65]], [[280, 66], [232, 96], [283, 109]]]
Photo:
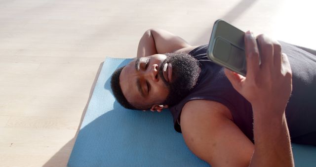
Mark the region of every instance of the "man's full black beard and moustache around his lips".
[[[163, 104], [169, 107], [179, 103], [197, 84], [199, 75], [199, 64], [197, 59], [186, 53], [167, 53], [167, 58], [163, 61], [159, 69], [159, 76], [169, 88], [169, 94]], [[172, 79], [168, 83], [163, 76], [163, 66], [165, 63], [172, 65]]]

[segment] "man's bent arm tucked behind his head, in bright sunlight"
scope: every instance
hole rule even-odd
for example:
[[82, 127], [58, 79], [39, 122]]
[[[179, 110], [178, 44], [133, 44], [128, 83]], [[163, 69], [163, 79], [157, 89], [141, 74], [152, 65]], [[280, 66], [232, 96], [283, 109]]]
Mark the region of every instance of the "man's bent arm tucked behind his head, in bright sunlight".
[[184, 48], [193, 49], [182, 38], [161, 29], [149, 29], [140, 39], [137, 49], [137, 57], [145, 57], [153, 54], [175, 52]]

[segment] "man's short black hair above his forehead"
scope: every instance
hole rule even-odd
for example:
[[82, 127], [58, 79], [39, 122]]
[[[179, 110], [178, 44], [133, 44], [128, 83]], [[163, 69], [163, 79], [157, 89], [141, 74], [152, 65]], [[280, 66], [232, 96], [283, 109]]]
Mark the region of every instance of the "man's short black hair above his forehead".
[[118, 68], [117, 70], [115, 70], [115, 72], [112, 74], [111, 77], [111, 88], [112, 88], [112, 92], [115, 96], [115, 98], [117, 99], [118, 103], [120, 105], [122, 105], [124, 108], [127, 109], [136, 109], [133, 105], [131, 105], [127, 99], [125, 98], [122, 89], [120, 88], [120, 84], [119, 84], [119, 75], [122, 72], [123, 67]]

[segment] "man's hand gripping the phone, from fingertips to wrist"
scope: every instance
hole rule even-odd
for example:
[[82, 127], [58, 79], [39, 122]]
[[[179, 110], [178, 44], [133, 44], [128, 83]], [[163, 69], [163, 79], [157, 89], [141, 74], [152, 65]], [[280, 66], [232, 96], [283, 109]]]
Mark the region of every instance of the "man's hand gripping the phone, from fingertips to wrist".
[[[292, 72], [281, 45], [270, 38], [245, 34], [246, 77], [225, 69], [234, 88], [251, 104], [254, 112], [283, 114], [292, 91]], [[257, 43], [258, 42], [258, 43]], [[259, 59], [261, 57], [261, 64]], [[255, 114], [255, 113], [254, 113]]]

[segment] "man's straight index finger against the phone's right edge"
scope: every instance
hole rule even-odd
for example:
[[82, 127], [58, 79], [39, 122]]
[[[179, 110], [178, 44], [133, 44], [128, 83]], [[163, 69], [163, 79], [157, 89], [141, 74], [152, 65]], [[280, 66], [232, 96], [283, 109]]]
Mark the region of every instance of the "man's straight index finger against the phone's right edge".
[[259, 71], [259, 49], [254, 35], [247, 31], [245, 33], [245, 54], [247, 62], [246, 77], [254, 77]]

